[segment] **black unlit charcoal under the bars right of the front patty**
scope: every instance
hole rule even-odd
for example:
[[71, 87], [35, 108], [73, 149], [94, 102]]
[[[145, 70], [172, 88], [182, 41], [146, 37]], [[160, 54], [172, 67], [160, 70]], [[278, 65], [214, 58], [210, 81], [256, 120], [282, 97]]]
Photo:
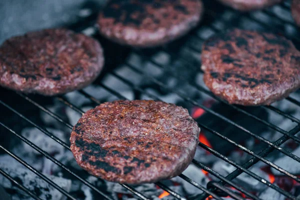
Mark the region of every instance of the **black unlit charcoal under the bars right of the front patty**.
[[[261, 119], [267, 120], [268, 118], [268, 113], [263, 108], [260, 107], [241, 107], [241, 108], [255, 116], [258, 116]], [[226, 118], [236, 122], [238, 125], [241, 125], [245, 129], [255, 134], [261, 134], [262, 132], [267, 130], [266, 125], [262, 123], [258, 123], [257, 120], [253, 119], [252, 117], [244, 113], [241, 113], [224, 103], [215, 103], [212, 105], [211, 109], [225, 116]], [[202, 114], [199, 118], [197, 118], [197, 121], [207, 125], [208, 127], [211, 127], [213, 130], [221, 133], [222, 135], [232, 139], [233, 141], [239, 144], [242, 144], [244, 143], [244, 141], [251, 138], [251, 136], [245, 133], [243, 130], [235, 127], [234, 125], [231, 125], [228, 122], [225, 122], [224, 120], [220, 119], [219, 117], [209, 112], [205, 112], [204, 114]], [[210, 141], [213, 149], [222, 153], [223, 155], [228, 155], [229, 152], [231, 152], [236, 148], [234, 145], [229, 144], [224, 139], [214, 134], [211, 134], [208, 131], [207, 132], [204, 131], [204, 135]], [[255, 147], [256, 149], [265, 148], [266, 145], [256, 145]]]

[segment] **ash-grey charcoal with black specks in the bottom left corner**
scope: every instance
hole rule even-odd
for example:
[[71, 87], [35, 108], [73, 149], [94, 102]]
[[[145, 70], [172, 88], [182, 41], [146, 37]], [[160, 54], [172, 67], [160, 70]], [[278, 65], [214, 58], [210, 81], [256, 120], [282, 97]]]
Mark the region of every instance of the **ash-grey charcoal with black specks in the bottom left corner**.
[[[33, 191], [39, 198], [47, 200], [66, 199], [60, 191], [56, 190], [39, 176], [29, 171], [29, 169], [18, 163], [11, 156], [1, 155], [0, 160], [1, 169], [12, 176], [18, 183]], [[64, 190], [70, 191], [71, 180], [48, 174], [45, 175]], [[24, 191], [20, 190], [17, 186], [12, 185], [11, 182], [2, 175], [0, 175], [0, 184], [10, 191], [16, 191], [13, 193], [13, 199], [18, 199], [18, 196], [21, 196], [20, 199], [31, 199]]]

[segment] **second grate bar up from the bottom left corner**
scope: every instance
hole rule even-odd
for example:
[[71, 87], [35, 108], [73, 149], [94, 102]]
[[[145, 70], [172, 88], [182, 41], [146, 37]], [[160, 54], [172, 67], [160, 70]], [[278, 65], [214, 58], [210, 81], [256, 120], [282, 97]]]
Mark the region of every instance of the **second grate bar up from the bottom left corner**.
[[65, 196], [67, 196], [70, 199], [76, 200], [76, 198], [74, 198], [73, 196], [71, 196], [67, 191], [65, 191], [63, 188], [61, 188], [60, 186], [58, 186], [56, 183], [54, 183], [52, 180], [50, 180], [49, 178], [47, 178], [44, 174], [42, 174], [41, 172], [39, 172], [38, 170], [36, 170], [34, 167], [30, 166], [27, 162], [25, 162], [24, 160], [22, 160], [20, 157], [18, 157], [16, 154], [14, 154], [13, 152], [11, 152], [10, 150], [7, 150], [6, 148], [4, 148], [1, 144], [0, 144], [0, 148], [3, 149], [8, 155], [10, 155], [11, 157], [13, 157], [14, 159], [16, 159], [19, 163], [21, 163], [22, 165], [24, 165], [26, 168], [28, 168], [30, 171], [32, 171], [33, 173], [35, 173], [37, 176], [39, 176], [40, 178], [42, 178], [44, 181], [46, 181], [47, 183], [49, 183], [50, 185], [52, 185], [55, 189], [57, 189], [58, 191], [60, 191], [61, 193], [63, 193]]

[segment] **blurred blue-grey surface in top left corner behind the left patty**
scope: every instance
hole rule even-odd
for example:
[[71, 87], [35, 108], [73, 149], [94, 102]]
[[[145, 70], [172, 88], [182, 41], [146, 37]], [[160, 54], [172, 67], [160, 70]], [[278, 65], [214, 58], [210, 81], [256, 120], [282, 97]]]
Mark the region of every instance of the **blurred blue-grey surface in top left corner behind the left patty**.
[[[0, 43], [6, 38], [75, 23], [80, 10], [100, 9], [106, 0], [0, 0]], [[94, 10], [92, 10], [94, 11]]]

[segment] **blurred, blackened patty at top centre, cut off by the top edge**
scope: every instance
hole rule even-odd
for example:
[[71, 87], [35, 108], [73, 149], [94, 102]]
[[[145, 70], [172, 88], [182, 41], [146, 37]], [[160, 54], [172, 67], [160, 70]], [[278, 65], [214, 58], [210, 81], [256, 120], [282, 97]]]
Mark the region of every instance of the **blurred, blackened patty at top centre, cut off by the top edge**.
[[110, 0], [98, 17], [99, 31], [121, 44], [152, 47], [195, 27], [200, 0]]

